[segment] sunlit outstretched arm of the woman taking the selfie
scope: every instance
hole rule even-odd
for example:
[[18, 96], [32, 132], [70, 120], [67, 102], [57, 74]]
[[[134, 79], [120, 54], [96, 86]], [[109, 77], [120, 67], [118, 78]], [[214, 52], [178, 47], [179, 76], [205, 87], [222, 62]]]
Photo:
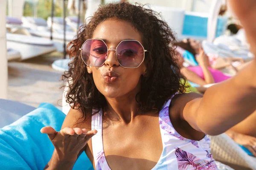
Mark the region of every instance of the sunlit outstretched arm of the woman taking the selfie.
[[[246, 31], [251, 51], [256, 54], [256, 1], [230, 1]], [[256, 110], [256, 60], [237, 76], [207, 89], [185, 104], [181, 118], [195, 130], [218, 135], [244, 120]], [[182, 98], [182, 97], [181, 97]]]

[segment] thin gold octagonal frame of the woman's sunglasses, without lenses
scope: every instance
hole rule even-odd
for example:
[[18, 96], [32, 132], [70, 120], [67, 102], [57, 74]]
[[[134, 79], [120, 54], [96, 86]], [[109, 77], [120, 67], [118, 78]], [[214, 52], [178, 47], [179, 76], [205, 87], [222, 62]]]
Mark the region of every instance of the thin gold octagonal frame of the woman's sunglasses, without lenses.
[[[88, 40], [100, 40], [100, 39], [88, 39]], [[85, 42], [87, 42], [88, 40], [86, 40]], [[103, 40], [100, 40], [100, 41], [102, 41], [102, 42], [104, 42]], [[117, 47], [122, 43], [122, 42], [124, 42], [124, 41], [136, 41], [136, 42], [139, 42], [139, 41], [137, 41], [137, 40], [122, 40], [121, 42], [119, 42], [119, 44], [116, 46], [116, 49], [117, 49]], [[83, 43], [83, 45], [85, 44], [85, 42]], [[139, 42], [140, 43], [140, 42]], [[106, 45], [106, 47], [107, 47], [107, 49], [108, 49], [108, 45], [104, 42], [104, 44]], [[83, 59], [83, 57], [82, 57], [82, 47], [83, 47], [83, 45], [81, 46], [81, 48], [79, 48], [79, 50], [81, 51], [81, 58], [82, 58], [82, 60], [83, 60], [83, 62], [84, 62], [84, 59]], [[142, 46], [142, 48], [143, 48], [143, 60], [142, 60], [142, 62], [140, 63], [140, 65], [143, 63], [143, 61], [144, 61], [144, 59], [145, 59], [145, 52], [147, 52], [147, 50], [145, 50], [145, 48], [143, 47], [143, 45], [140, 43], [140, 45]], [[110, 51], [110, 50], [113, 50], [113, 51], [116, 51], [116, 49], [108, 49], [108, 51]], [[107, 53], [108, 54], [108, 53]], [[107, 55], [107, 58], [106, 58], [106, 60], [108, 59], [108, 55]], [[105, 60], [105, 61], [106, 61]], [[123, 67], [123, 68], [138, 68], [138, 67], [140, 67], [140, 65], [138, 65], [137, 67], [124, 67], [124, 66], [122, 66], [121, 64], [120, 64], [120, 62], [118, 61], [118, 59], [117, 59], [117, 53], [116, 53], [116, 61], [119, 63], [119, 65], [121, 66], [121, 67]], [[104, 63], [105, 62], [103, 62], [102, 63], [102, 65], [104, 65]], [[84, 64], [86, 64], [85, 62], [84, 62]], [[87, 64], [86, 64], [87, 65]], [[91, 65], [88, 65], [88, 66], [90, 66], [90, 67], [101, 67], [102, 65], [100, 65], [100, 66], [91, 66]]]

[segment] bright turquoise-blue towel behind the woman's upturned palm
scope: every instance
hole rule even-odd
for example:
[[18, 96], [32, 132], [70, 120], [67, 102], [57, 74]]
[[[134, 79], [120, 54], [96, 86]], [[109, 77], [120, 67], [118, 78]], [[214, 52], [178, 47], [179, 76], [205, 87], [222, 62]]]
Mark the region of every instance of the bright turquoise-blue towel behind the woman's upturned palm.
[[[0, 129], [0, 167], [2, 170], [42, 170], [52, 156], [54, 147], [40, 129], [51, 126], [60, 130], [65, 114], [47, 103]], [[82, 153], [74, 170], [93, 170]]]

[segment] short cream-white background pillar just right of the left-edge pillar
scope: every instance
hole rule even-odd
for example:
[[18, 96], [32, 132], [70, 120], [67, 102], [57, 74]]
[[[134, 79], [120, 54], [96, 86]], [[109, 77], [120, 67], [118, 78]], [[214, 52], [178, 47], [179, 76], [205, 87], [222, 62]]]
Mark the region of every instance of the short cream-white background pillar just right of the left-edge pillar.
[[23, 16], [24, 1], [25, 0], [8, 0], [8, 15], [10, 17], [16, 17], [21, 19], [21, 17]]

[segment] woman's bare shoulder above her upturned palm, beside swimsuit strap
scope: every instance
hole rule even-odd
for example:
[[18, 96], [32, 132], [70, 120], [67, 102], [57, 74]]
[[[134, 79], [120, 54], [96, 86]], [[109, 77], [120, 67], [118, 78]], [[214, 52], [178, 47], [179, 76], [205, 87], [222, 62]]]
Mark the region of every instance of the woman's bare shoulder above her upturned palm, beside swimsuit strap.
[[81, 112], [80, 109], [71, 108], [70, 111], [67, 113], [66, 118], [64, 119], [61, 129], [64, 127], [79, 127], [91, 130], [91, 117], [88, 117], [84, 120], [84, 114]]

